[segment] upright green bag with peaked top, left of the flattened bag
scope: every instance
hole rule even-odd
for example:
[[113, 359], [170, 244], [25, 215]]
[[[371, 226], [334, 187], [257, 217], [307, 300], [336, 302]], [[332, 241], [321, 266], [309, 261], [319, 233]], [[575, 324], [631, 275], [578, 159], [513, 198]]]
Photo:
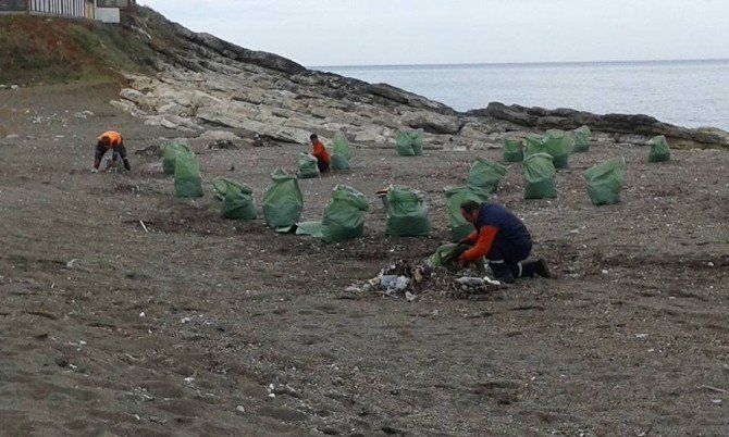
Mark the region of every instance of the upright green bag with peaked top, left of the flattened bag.
[[271, 173], [271, 184], [263, 195], [265, 224], [276, 232], [289, 232], [301, 216], [304, 197], [296, 176], [281, 168]]

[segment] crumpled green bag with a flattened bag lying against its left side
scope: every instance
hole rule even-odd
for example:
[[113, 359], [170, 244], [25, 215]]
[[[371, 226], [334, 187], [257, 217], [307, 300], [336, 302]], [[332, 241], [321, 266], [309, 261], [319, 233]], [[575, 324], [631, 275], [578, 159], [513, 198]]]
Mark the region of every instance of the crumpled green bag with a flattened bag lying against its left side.
[[334, 187], [332, 200], [324, 207], [323, 237], [326, 242], [336, 242], [364, 234], [364, 217], [370, 203], [361, 192], [347, 185]]

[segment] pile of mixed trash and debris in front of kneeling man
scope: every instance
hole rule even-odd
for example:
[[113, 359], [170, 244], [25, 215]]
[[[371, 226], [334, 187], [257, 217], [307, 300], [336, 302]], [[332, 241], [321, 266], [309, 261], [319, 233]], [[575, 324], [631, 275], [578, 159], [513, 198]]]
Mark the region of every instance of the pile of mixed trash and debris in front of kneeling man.
[[[454, 299], [467, 299], [473, 295], [490, 295], [504, 285], [489, 276], [478, 276], [473, 271], [460, 272], [453, 266], [433, 267], [430, 263], [415, 264], [410, 260], [400, 260], [388, 265], [361, 286], [351, 285], [345, 289], [345, 296], [359, 297], [379, 294], [409, 302], [418, 300], [424, 294], [440, 294]], [[470, 275], [469, 275], [470, 274]]]

